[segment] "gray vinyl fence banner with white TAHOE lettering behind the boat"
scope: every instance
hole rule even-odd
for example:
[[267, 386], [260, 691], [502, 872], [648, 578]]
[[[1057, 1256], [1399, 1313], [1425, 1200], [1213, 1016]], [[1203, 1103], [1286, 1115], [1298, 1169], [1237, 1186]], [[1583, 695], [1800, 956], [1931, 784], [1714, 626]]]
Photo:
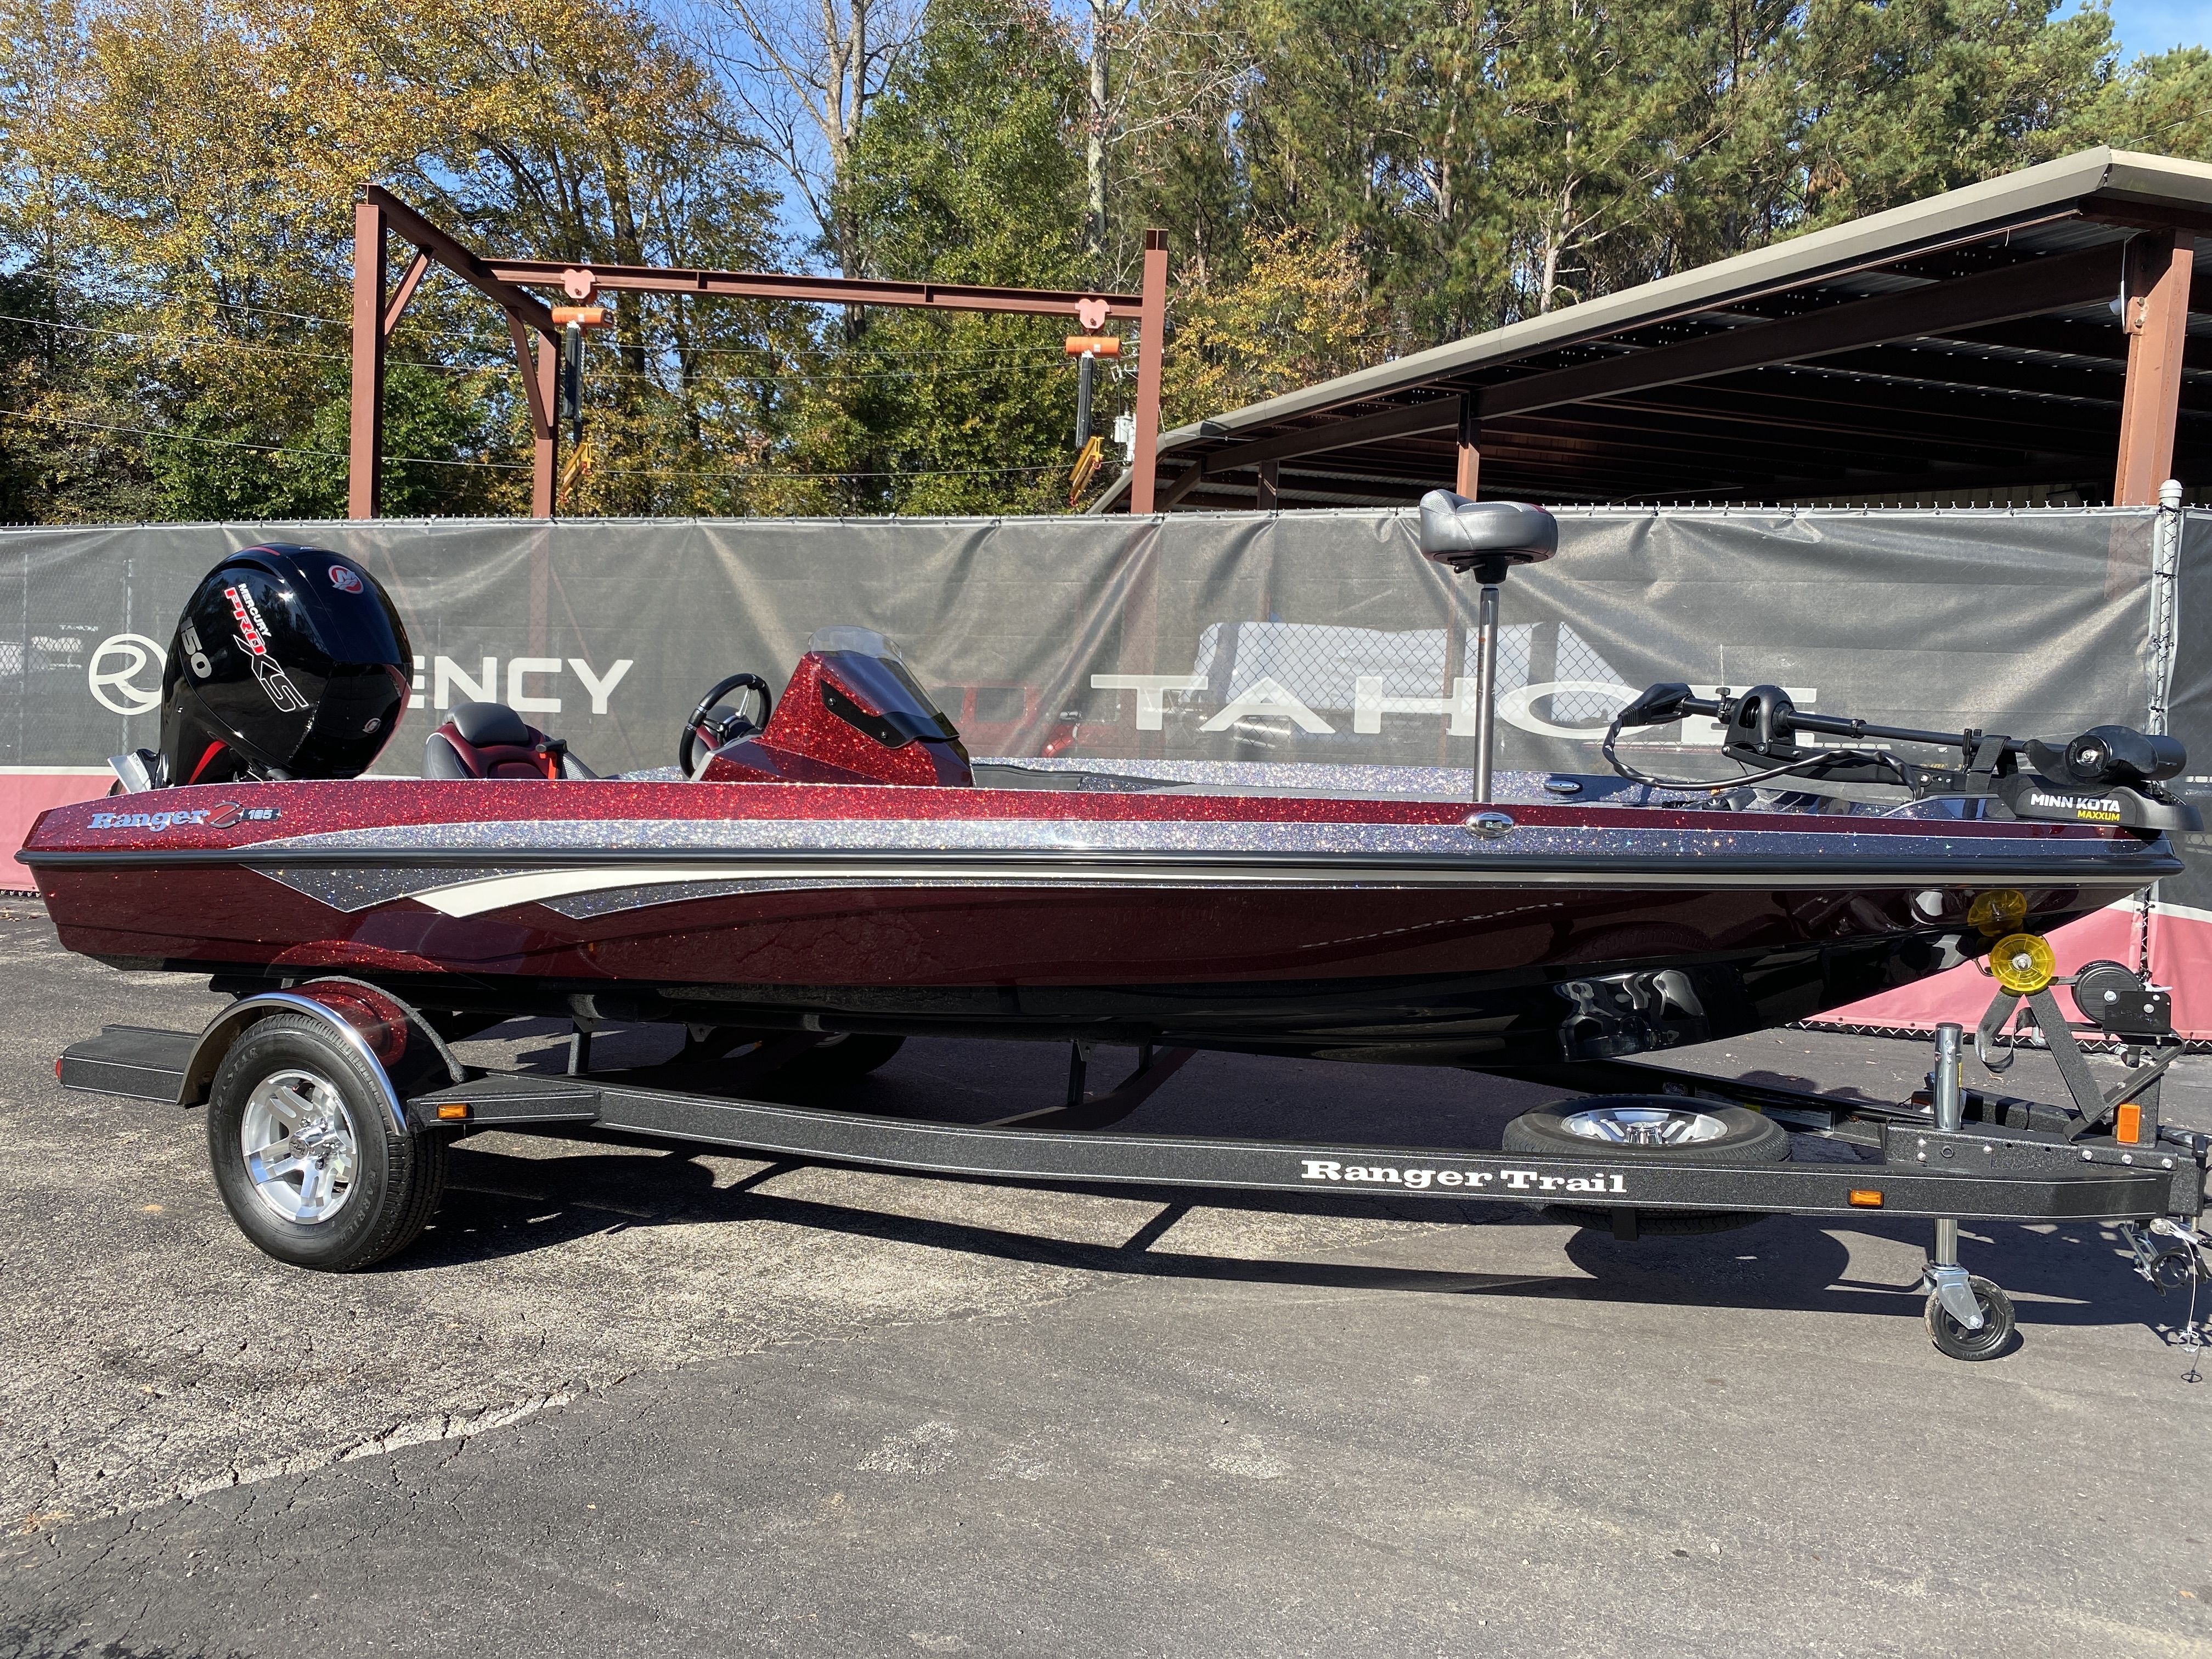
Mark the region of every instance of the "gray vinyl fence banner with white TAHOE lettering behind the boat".
[[[2212, 772], [2212, 515], [2181, 533], [2172, 728]], [[177, 608], [228, 551], [305, 542], [392, 591], [416, 714], [513, 703], [599, 772], [668, 765], [723, 675], [878, 628], [975, 754], [1469, 768], [1475, 591], [1411, 513], [1166, 520], [383, 520], [0, 531], [0, 765], [157, 743]], [[2068, 737], [2150, 719], [2152, 509], [1564, 511], [1506, 582], [1500, 765], [1593, 772], [1639, 688], [1776, 684], [1898, 726]], [[1710, 721], [1628, 750], [1721, 776]], [[1440, 781], [1447, 783], [1447, 781]], [[1458, 783], [1451, 783], [1458, 787]], [[2197, 880], [2185, 883], [2188, 889]], [[2174, 894], [2212, 909], [2212, 894]]]

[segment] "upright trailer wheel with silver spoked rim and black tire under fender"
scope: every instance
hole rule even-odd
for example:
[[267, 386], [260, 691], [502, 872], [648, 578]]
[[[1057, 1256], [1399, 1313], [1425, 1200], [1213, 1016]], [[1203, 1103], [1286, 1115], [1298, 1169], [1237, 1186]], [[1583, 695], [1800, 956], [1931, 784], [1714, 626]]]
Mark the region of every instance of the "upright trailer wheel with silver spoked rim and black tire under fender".
[[358, 1272], [414, 1243], [445, 1135], [400, 1135], [367, 1062], [310, 1015], [246, 1029], [208, 1091], [208, 1161], [239, 1230], [294, 1267]]

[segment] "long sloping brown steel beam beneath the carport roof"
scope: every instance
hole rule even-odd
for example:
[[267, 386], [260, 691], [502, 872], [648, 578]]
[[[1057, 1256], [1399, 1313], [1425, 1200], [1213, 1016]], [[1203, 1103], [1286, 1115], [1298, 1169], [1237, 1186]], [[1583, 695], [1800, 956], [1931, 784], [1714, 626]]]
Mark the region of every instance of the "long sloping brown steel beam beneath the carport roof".
[[1849, 352], [1860, 345], [1911, 338], [1944, 327], [2008, 323], [2020, 316], [2077, 305], [2115, 288], [2117, 261], [2110, 248], [2055, 254], [1951, 283], [1929, 283], [1909, 294], [1829, 305], [1805, 316], [1747, 323], [1725, 334], [1708, 334], [1648, 352], [1577, 363], [1482, 389], [1482, 418], [1528, 414], [1562, 403], [1646, 392], [1717, 374], [1801, 363]]

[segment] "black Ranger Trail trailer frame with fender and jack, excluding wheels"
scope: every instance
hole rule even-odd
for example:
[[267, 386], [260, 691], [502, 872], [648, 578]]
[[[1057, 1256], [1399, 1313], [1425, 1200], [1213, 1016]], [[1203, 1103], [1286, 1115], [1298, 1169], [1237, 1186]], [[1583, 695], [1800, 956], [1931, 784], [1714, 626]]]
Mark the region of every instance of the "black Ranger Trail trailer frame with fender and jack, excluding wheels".
[[[1927, 1219], [1936, 1223], [1924, 1287], [1938, 1347], [1958, 1358], [1991, 1358], [2008, 1347], [2011, 1303], [1960, 1265], [1960, 1221], [2099, 1221], [2121, 1232], [2137, 1272], [2161, 1292], [2212, 1279], [2212, 1239], [2199, 1232], [2212, 1135], [2159, 1124], [2166, 1064], [2139, 1064], [2132, 1084], [2097, 1091], [2048, 989], [2026, 1002], [2039, 1015], [2044, 1042], [2059, 1051], [2073, 1106], [1964, 1088], [1960, 1026], [1938, 1029], [1929, 1088], [1896, 1104], [1705, 1077], [1641, 1060], [1502, 1073], [1593, 1093], [1745, 1106], [1794, 1133], [1871, 1155], [1805, 1164], [1681, 1164], [1668, 1161], [1663, 1148], [1524, 1155], [1117, 1130], [1115, 1124], [1190, 1060], [1190, 1048], [1141, 1048], [1124, 1084], [1088, 1095], [1091, 1044], [1077, 1044], [1064, 1104], [993, 1124], [745, 1097], [759, 1079], [836, 1035], [821, 1029], [770, 1035], [750, 1053], [719, 1062], [714, 1093], [666, 1086], [668, 1068], [593, 1071], [584, 1024], [571, 1040], [566, 1075], [484, 1071], [465, 1066], [420, 1011], [347, 978], [241, 998], [197, 1035], [106, 1026], [66, 1048], [55, 1077], [84, 1093], [201, 1104], [223, 1053], [254, 1020], [307, 1013], [383, 1079], [396, 1135], [453, 1137], [487, 1128], [615, 1135], [962, 1181], [1148, 1190], [1186, 1201], [1203, 1194], [1214, 1203], [1292, 1201], [1316, 1210], [1387, 1197], [1400, 1212], [1411, 1206], [1433, 1212], [1425, 1219], [1436, 1221], [1464, 1219], [1464, 1201], [1557, 1203], [1579, 1217], [1601, 1212], [1619, 1239], [1637, 1239], [1644, 1221], [1661, 1225], [1670, 1212]], [[2000, 1004], [2011, 1009], [2002, 995]], [[1984, 1042], [2002, 1024], [1993, 1004]], [[1984, 1057], [1993, 1057], [1986, 1046]]]

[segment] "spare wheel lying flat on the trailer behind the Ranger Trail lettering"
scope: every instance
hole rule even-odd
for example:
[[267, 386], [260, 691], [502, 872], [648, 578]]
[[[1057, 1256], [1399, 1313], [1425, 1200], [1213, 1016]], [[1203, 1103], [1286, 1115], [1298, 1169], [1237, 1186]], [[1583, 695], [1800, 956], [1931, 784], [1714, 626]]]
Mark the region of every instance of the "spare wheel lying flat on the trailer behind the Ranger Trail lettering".
[[[1639, 1164], [1781, 1164], [1790, 1130], [1743, 1106], [1686, 1095], [1597, 1095], [1522, 1113], [1504, 1130], [1504, 1150], [1542, 1157], [1617, 1157]], [[1610, 1228], [1613, 1206], [1551, 1203], [1546, 1214], [1582, 1228]], [[1637, 1210], [1637, 1234], [1728, 1232], [1759, 1221], [1756, 1210]]]

